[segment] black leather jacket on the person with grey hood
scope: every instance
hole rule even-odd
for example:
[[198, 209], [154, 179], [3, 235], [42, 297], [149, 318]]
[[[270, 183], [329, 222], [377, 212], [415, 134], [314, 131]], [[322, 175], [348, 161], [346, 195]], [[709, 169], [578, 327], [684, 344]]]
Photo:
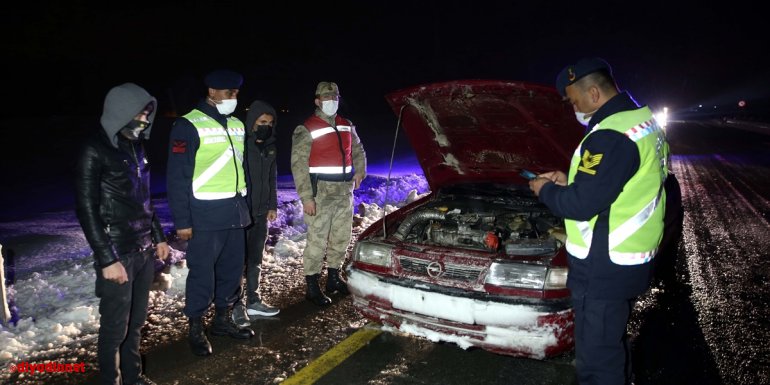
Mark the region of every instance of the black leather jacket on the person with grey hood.
[[152, 207], [144, 146], [118, 137], [115, 148], [103, 130], [96, 131], [76, 166], [77, 216], [101, 268], [166, 241]]

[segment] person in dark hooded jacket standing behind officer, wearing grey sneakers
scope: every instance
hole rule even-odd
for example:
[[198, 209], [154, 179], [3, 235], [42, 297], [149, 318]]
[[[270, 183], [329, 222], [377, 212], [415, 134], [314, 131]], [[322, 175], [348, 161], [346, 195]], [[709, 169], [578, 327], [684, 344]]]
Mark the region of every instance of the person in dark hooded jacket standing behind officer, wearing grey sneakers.
[[252, 225], [246, 230], [246, 290], [233, 308], [233, 322], [249, 326], [258, 316], [274, 316], [279, 309], [266, 304], [259, 294], [262, 255], [267, 240], [268, 221], [278, 217], [275, 109], [255, 100], [246, 116], [246, 150], [243, 167], [249, 186], [249, 210]]

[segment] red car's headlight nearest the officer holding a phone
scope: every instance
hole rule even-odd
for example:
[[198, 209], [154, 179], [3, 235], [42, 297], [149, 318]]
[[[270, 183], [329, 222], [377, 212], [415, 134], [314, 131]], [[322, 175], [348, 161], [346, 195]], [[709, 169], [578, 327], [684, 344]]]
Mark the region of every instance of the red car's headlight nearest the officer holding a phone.
[[523, 289], [563, 289], [567, 286], [567, 269], [522, 263], [492, 263], [486, 283]]

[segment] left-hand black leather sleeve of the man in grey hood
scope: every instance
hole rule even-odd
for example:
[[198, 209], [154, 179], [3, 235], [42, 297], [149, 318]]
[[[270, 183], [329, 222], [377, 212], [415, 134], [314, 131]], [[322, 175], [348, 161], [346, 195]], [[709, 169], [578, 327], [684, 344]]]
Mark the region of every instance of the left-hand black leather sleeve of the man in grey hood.
[[103, 268], [117, 262], [118, 255], [99, 214], [101, 169], [97, 149], [85, 145], [75, 166], [75, 211], [96, 264]]

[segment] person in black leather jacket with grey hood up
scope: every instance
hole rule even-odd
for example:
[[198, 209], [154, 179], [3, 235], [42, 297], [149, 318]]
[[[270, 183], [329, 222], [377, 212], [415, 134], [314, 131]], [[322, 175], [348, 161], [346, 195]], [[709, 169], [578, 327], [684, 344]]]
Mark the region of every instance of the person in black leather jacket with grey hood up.
[[84, 143], [75, 167], [76, 213], [94, 253], [100, 299], [102, 384], [154, 384], [142, 374], [139, 343], [154, 255], [164, 260], [170, 251], [152, 206], [143, 144], [156, 109], [155, 98], [134, 83], [112, 88], [101, 129]]

